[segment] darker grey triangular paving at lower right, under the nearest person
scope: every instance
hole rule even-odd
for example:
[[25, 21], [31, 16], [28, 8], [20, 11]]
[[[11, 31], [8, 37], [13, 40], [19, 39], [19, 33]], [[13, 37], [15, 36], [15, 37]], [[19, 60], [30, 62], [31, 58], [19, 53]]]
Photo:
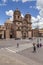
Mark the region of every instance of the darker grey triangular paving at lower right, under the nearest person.
[[36, 63], [38, 62], [43, 65], [43, 47], [37, 48], [35, 53], [33, 53], [33, 48], [28, 48], [21, 52], [18, 52], [18, 54], [23, 55], [26, 58], [30, 58]]

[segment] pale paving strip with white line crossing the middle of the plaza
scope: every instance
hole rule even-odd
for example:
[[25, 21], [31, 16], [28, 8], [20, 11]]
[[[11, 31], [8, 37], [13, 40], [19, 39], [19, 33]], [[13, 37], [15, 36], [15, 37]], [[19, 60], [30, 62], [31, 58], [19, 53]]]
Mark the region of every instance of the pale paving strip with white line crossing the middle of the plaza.
[[5, 49], [6, 49], [6, 51], [17, 53], [17, 52], [20, 52], [27, 48], [30, 48], [30, 47], [32, 47], [32, 44], [21, 44], [21, 45], [19, 45], [18, 48], [17, 48], [17, 46], [15, 46], [15, 47], [13, 46], [13, 47], [5, 48]]

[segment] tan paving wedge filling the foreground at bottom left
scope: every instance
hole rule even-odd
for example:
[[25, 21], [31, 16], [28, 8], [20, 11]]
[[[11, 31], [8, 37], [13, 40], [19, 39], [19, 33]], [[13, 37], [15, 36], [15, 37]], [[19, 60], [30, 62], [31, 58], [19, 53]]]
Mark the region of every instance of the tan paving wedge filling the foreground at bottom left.
[[0, 53], [1, 65], [42, 65], [17, 53], [10, 53], [5, 50], [0, 51]]

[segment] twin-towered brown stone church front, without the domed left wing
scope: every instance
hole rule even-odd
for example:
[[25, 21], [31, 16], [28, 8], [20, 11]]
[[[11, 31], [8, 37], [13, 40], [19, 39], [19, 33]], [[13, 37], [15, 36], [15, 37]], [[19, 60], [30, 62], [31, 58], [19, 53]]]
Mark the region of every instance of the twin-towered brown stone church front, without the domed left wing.
[[21, 12], [19, 10], [15, 10], [13, 17], [14, 37], [24, 39], [29, 37], [31, 38], [32, 37], [31, 15], [26, 14], [24, 18], [22, 18]]

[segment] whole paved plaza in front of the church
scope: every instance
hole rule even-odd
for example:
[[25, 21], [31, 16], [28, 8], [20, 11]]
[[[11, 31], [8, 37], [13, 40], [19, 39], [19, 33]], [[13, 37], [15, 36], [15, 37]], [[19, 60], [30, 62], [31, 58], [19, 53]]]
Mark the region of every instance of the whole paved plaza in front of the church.
[[43, 65], [43, 47], [33, 53], [33, 42], [37, 40], [0, 40], [0, 65]]

